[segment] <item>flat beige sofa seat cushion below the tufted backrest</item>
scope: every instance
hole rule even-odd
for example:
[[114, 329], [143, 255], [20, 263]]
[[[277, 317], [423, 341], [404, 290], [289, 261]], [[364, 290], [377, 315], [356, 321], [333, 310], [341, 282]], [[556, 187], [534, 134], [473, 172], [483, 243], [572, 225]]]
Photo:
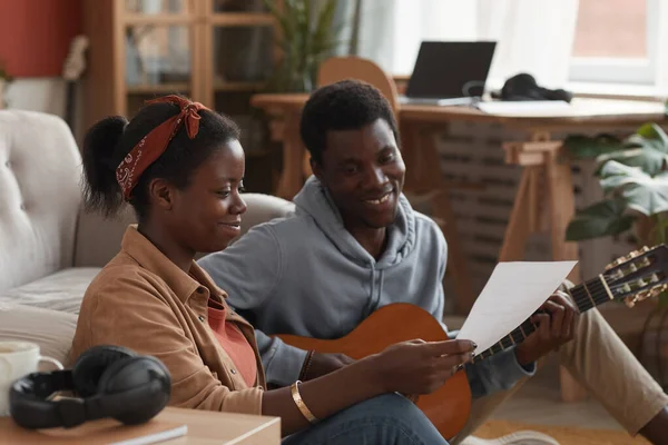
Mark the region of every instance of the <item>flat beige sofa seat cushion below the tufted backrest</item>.
[[79, 314], [86, 288], [99, 271], [97, 267], [62, 269], [27, 285], [0, 290], [0, 304]]

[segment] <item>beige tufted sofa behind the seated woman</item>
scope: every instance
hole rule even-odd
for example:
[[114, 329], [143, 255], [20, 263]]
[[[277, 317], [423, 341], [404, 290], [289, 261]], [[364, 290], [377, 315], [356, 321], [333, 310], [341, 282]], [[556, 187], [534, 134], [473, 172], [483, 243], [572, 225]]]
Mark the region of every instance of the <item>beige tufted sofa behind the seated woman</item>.
[[[134, 221], [81, 211], [81, 157], [60, 118], [0, 110], [0, 339], [38, 343], [66, 358], [84, 293], [118, 251]], [[245, 195], [242, 231], [293, 211], [266, 195]]]

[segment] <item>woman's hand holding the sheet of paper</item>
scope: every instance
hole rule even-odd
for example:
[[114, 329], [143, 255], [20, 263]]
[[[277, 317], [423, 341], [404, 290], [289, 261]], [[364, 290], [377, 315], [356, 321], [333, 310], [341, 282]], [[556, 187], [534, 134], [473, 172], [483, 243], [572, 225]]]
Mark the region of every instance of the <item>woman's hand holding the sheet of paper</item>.
[[440, 388], [473, 358], [469, 340], [399, 343], [367, 357], [384, 392], [429, 394]]

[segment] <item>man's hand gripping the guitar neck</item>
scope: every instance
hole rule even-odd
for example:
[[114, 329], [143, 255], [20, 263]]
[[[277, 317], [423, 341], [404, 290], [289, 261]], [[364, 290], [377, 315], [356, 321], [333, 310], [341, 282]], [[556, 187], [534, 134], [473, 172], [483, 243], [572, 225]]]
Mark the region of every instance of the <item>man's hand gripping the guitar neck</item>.
[[518, 362], [522, 366], [536, 362], [550, 350], [570, 342], [576, 333], [578, 309], [563, 291], [554, 293], [540, 309], [547, 314], [531, 317], [531, 320], [538, 325], [538, 329], [515, 349]]

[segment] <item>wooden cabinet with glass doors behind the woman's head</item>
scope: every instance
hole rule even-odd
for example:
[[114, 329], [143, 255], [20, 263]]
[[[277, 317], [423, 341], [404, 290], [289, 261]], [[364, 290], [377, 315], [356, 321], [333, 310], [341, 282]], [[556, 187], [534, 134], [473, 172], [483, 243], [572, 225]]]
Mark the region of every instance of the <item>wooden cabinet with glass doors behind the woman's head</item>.
[[[282, 8], [284, 1], [275, 0], [275, 3]], [[244, 81], [243, 71], [235, 66], [235, 57], [238, 53], [244, 56], [245, 50], [237, 47], [245, 44], [250, 31], [258, 30], [257, 37], [263, 43], [249, 50], [257, 51], [257, 56], [263, 58], [264, 55], [273, 56], [274, 62], [277, 61], [278, 51], [269, 41], [272, 34], [278, 32], [277, 20], [263, 9], [216, 10], [214, 0], [180, 0], [179, 3], [179, 9], [165, 8], [149, 13], [148, 10], [129, 9], [126, 0], [82, 2], [84, 32], [91, 48], [88, 53], [90, 69], [85, 82], [86, 126], [105, 116], [131, 118], [145, 99], [170, 93], [186, 95], [209, 108], [218, 106], [223, 112], [247, 113], [248, 98], [262, 92], [266, 82], [250, 81], [253, 78], [249, 76], [248, 81]], [[135, 42], [130, 47], [127, 32], [139, 28], [149, 31], [147, 44], [141, 47], [141, 42]], [[167, 32], [170, 28], [178, 29], [178, 32]], [[226, 47], [216, 51], [218, 44]], [[268, 48], [269, 44], [272, 48]], [[173, 52], [169, 48], [178, 48], [178, 52], [188, 55], [188, 62], [184, 61], [189, 65], [186, 76], [132, 77], [135, 83], [127, 83], [128, 69], [132, 68], [127, 66], [129, 55], [167, 58]], [[247, 62], [261, 63], [258, 69], [268, 69], [269, 65], [264, 59]], [[242, 73], [234, 77], [233, 71]], [[230, 75], [230, 81], [224, 81], [225, 73]]]

